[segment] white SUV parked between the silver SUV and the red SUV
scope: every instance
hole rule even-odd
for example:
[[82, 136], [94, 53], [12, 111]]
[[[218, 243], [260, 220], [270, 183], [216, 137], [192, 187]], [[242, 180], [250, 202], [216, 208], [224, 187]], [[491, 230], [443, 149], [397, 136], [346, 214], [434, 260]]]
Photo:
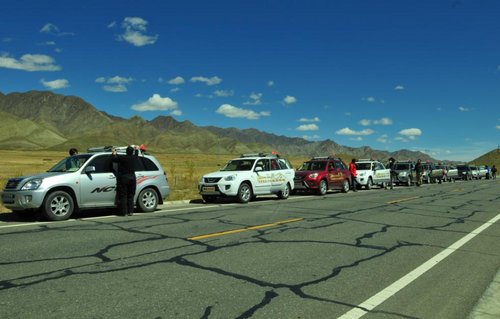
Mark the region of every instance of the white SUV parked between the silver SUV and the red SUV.
[[243, 154], [217, 172], [203, 175], [198, 191], [205, 202], [232, 197], [247, 203], [258, 195], [276, 194], [286, 199], [294, 188], [295, 170], [275, 154]]

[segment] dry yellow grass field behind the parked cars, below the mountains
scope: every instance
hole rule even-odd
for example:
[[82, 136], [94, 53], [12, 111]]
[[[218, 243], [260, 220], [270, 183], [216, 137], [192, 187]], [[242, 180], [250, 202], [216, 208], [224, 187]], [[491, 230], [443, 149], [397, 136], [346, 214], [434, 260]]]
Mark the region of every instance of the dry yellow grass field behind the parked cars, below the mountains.
[[[171, 188], [168, 201], [199, 199], [198, 181], [203, 174], [219, 170], [236, 155], [153, 154], [167, 172]], [[40, 173], [55, 165], [67, 152], [0, 150], [0, 188], [8, 178]], [[307, 158], [289, 158], [298, 167]], [[9, 210], [0, 204], [0, 212]]]

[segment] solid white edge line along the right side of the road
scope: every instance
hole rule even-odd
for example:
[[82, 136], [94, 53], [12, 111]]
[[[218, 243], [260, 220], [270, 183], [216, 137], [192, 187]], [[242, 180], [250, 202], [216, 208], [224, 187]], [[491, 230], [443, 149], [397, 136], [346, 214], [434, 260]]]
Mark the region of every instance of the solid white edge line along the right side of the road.
[[474, 237], [479, 235], [481, 232], [483, 232], [486, 228], [490, 227], [494, 223], [496, 223], [498, 220], [500, 220], [500, 214], [496, 215], [480, 227], [476, 228], [469, 234], [465, 235], [461, 239], [457, 240], [455, 243], [453, 243], [451, 246], [448, 248], [444, 249], [441, 251], [439, 254], [436, 256], [432, 257], [429, 259], [427, 262], [423, 263], [419, 267], [417, 267], [415, 270], [411, 271], [407, 275], [403, 276], [401, 279], [398, 281], [394, 282], [384, 290], [380, 291], [373, 297], [367, 299], [363, 303], [359, 304], [356, 308], [346, 312], [344, 315], [339, 317], [338, 319], [358, 319], [367, 314], [369, 311], [373, 310], [375, 307], [379, 306], [381, 303], [395, 295], [397, 292], [399, 292], [401, 289], [409, 285], [412, 281], [426, 273], [428, 270], [430, 270], [432, 267], [436, 266], [439, 264], [443, 259], [451, 255], [453, 252], [458, 250], [460, 247], [465, 245], [467, 242], [472, 240]]

